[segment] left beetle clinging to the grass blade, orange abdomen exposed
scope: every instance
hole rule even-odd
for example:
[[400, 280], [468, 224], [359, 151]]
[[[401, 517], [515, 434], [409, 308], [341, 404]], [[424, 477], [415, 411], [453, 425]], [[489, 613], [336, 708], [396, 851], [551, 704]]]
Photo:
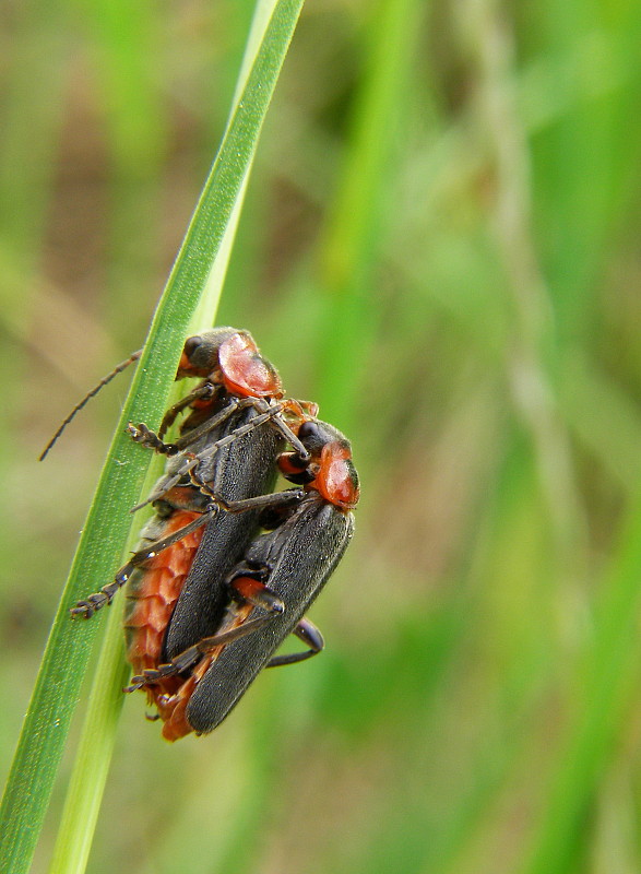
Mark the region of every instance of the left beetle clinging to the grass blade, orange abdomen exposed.
[[[190, 458], [197, 463], [187, 473], [177, 473], [185, 453], [176, 450], [178, 454], [169, 458], [168, 471], [154, 489], [156, 515], [142, 532], [139, 551], [111, 583], [71, 611], [88, 618], [129, 582], [127, 650], [138, 672], [168, 658], [165, 633], [180, 598], [187, 612], [198, 603], [192, 624], [200, 636], [212, 634], [226, 597], [223, 581], [256, 533], [261, 498], [273, 488], [283, 435], [297, 440], [282, 418], [282, 405], [275, 404], [283, 394], [280, 377], [246, 331], [223, 328], [190, 338], [177, 379], [183, 376], [203, 381], [167, 412], [161, 434], [188, 411], [180, 440], [191, 448]], [[285, 406], [289, 417], [293, 411], [302, 418], [316, 412], [312, 404], [286, 401]], [[210, 451], [212, 447], [215, 451]], [[218, 495], [218, 505], [224, 501], [245, 511], [219, 511], [193, 485], [191, 477], [197, 476]], [[285, 503], [295, 499], [284, 496]], [[169, 681], [171, 686], [176, 683]], [[153, 701], [157, 690], [150, 697]]]

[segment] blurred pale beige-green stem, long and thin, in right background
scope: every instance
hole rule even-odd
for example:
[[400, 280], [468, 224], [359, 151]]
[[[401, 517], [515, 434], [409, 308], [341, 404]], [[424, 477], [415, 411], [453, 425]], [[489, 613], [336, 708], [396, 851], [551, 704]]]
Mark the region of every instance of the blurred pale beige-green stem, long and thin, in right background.
[[560, 627], [570, 630], [572, 639], [578, 629], [571, 628], [568, 616], [581, 602], [586, 531], [570, 441], [548, 374], [549, 355], [556, 352], [555, 316], [535, 251], [530, 155], [517, 108], [513, 37], [497, 0], [465, 0], [462, 10], [477, 70], [476, 111], [495, 174], [494, 227], [513, 314], [508, 379], [532, 436], [567, 595], [559, 605]]

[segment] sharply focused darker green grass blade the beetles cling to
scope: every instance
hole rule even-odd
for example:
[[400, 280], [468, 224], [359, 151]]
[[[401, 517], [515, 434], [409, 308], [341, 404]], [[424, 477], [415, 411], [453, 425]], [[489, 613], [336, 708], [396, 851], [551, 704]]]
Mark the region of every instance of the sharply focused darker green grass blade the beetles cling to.
[[[157, 424], [176, 362], [203, 290], [215, 310], [219, 283], [212, 281], [226, 228], [256, 152], [262, 122], [302, 0], [282, 0], [260, 44], [185, 241], [161, 299], [145, 351], [109, 451], [75, 560], [50, 633], [36, 687], [0, 810], [0, 870], [27, 871], [83, 673], [100, 617], [82, 628], [68, 609], [109, 579], [130, 528], [128, 509], [140, 494], [150, 459], [123, 434], [128, 421]], [[202, 317], [203, 308], [199, 308]], [[91, 770], [91, 768], [90, 768]]]

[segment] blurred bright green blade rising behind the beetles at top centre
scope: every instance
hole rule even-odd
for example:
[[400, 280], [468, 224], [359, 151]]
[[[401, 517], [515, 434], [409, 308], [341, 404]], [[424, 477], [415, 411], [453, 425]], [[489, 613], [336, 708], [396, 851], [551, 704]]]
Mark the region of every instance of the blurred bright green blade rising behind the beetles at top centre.
[[393, 178], [395, 143], [422, 12], [416, 0], [379, 0], [369, 15], [368, 63], [336, 201], [321, 248], [323, 335], [319, 402], [323, 415], [352, 430], [353, 398], [377, 324], [371, 286], [381, 216]]

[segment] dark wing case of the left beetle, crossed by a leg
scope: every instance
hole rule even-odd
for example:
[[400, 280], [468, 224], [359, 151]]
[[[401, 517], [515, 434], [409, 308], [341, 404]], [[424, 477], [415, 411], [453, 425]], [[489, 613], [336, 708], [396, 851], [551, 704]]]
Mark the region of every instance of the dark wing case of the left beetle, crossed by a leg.
[[[210, 439], [230, 434], [254, 415], [251, 408], [240, 411]], [[269, 494], [274, 487], [276, 458], [283, 447], [284, 440], [275, 428], [259, 425], [202, 462], [199, 475], [225, 500]], [[194, 447], [192, 451], [201, 448]], [[163, 653], [167, 661], [216, 631], [228, 601], [225, 580], [256, 535], [259, 515], [258, 510], [218, 512], [207, 522], [167, 629]]]

